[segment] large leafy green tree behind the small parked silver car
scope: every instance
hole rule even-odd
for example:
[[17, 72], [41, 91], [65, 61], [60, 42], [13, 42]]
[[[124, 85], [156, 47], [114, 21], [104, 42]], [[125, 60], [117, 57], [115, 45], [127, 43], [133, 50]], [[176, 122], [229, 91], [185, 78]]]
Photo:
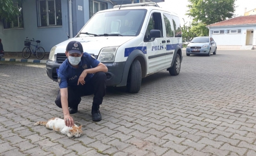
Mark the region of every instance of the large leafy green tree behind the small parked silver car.
[[188, 0], [191, 4], [189, 17], [193, 17], [193, 22], [202, 22], [210, 25], [232, 18], [235, 14], [235, 0]]

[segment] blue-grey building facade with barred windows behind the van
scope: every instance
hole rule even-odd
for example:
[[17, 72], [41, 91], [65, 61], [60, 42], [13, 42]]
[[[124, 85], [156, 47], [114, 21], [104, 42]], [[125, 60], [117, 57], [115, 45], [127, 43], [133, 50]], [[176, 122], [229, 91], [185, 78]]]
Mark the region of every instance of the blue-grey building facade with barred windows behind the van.
[[21, 15], [13, 21], [0, 21], [0, 38], [6, 52], [21, 52], [26, 37], [40, 40], [40, 46], [50, 52], [68, 39], [67, 34], [75, 36], [96, 12], [115, 4], [110, 0], [25, 0], [22, 5], [14, 5]]

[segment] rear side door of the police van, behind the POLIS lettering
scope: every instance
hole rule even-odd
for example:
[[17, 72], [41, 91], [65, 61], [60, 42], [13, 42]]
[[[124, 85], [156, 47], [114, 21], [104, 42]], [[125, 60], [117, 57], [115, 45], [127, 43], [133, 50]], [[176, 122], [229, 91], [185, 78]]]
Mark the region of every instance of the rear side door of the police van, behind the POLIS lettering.
[[166, 30], [166, 57], [165, 63], [166, 67], [172, 64], [173, 55], [174, 55], [174, 29], [172, 16], [168, 12], [163, 13], [165, 30]]

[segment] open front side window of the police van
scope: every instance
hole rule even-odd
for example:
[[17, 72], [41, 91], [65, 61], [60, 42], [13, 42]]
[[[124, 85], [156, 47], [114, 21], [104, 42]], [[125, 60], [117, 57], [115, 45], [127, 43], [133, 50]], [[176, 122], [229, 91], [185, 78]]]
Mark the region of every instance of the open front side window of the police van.
[[150, 16], [148, 27], [146, 29], [145, 33], [145, 39], [150, 40], [150, 30], [160, 30], [161, 31], [161, 36], [163, 36], [163, 26], [162, 26], [162, 17], [161, 13], [154, 12]]

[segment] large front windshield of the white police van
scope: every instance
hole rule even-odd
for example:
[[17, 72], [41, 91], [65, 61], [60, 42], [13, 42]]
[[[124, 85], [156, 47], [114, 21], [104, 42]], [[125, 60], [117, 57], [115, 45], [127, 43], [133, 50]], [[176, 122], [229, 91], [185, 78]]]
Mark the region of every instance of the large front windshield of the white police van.
[[137, 36], [143, 25], [146, 9], [114, 10], [96, 13], [78, 37]]

